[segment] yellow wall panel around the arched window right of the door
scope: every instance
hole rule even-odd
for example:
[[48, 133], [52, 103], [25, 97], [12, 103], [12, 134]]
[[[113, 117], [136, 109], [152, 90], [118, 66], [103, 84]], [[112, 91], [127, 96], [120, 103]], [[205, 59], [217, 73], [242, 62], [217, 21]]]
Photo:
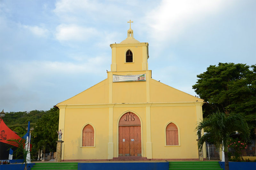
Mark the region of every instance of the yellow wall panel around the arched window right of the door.
[[[166, 146], [165, 126], [172, 121], [179, 129], [179, 146]], [[194, 106], [151, 107], [153, 158], [196, 159], [196, 113]]]

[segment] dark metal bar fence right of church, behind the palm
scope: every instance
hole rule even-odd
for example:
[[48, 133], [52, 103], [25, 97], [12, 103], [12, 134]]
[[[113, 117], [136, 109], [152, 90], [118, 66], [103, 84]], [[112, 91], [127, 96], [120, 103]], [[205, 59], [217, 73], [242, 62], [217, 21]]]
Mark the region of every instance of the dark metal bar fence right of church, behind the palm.
[[[231, 153], [231, 156], [235, 156], [234, 148], [228, 148], [228, 152]], [[216, 148], [214, 144], [207, 144], [206, 155], [207, 160], [220, 160], [220, 149]], [[242, 156], [256, 156], [255, 145], [248, 144], [248, 147], [242, 150]]]

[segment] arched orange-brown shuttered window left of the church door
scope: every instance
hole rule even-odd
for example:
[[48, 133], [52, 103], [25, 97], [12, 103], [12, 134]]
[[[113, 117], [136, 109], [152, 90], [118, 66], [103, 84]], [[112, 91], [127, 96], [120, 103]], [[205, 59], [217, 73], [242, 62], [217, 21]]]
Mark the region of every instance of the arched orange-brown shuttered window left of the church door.
[[90, 124], [86, 125], [83, 129], [82, 146], [94, 146], [94, 129]]

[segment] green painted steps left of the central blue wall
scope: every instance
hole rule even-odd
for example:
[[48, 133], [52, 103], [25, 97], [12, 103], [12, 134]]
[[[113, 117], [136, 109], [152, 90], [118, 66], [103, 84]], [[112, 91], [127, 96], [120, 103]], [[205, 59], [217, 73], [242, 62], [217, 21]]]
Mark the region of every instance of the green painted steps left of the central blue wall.
[[77, 170], [76, 162], [36, 163], [31, 170]]

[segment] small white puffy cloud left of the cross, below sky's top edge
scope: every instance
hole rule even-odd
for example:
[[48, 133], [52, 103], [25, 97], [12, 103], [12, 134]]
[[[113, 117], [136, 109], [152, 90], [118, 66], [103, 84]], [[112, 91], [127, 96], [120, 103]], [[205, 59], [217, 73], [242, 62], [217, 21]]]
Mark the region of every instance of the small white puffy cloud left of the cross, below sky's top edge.
[[61, 24], [57, 26], [55, 36], [59, 41], [86, 41], [97, 33], [94, 28]]

